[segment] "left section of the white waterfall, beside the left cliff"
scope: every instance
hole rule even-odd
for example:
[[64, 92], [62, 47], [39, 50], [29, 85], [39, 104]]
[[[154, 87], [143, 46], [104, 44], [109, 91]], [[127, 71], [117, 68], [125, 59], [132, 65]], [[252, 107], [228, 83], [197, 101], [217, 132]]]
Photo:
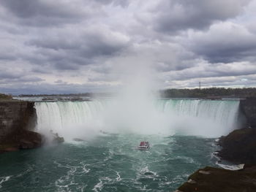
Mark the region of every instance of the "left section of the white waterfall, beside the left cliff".
[[90, 126], [91, 121], [97, 120], [105, 107], [101, 101], [46, 101], [36, 102], [35, 108], [37, 131], [49, 135], [53, 130], [61, 135], [76, 137], [83, 132], [84, 126]]

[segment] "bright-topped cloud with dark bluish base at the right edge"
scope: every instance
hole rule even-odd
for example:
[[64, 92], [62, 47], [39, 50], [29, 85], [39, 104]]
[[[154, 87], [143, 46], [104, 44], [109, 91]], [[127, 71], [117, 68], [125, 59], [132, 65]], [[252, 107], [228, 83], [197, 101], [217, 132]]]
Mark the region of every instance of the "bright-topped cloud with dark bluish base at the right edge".
[[[191, 49], [211, 63], [256, 61], [256, 34], [233, 23], [218, 23], [206, 32], [191, 34]], [[184, 42], [187, 45], [187, 42]]]

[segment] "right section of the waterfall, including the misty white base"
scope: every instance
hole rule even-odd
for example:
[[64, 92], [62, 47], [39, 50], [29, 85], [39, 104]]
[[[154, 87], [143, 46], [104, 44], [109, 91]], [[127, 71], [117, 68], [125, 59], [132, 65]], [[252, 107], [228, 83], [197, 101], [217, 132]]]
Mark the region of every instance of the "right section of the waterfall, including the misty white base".
[[238, 128], [239, 101], [169, 99], [159, 103], [159, 110], [173, 119], [176, 132], [220, 137]]

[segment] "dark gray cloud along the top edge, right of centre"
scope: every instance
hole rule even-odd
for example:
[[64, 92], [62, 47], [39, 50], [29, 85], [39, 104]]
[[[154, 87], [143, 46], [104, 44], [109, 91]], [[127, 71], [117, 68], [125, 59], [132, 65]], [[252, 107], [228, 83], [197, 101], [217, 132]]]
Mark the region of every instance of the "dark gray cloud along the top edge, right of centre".
[[188, 28], [206, 28], [214, 21], [236, 17], [248, 2], [249, 0], [163, 0], [154, 9], [154, 26], [157, 31], [167, 33]]

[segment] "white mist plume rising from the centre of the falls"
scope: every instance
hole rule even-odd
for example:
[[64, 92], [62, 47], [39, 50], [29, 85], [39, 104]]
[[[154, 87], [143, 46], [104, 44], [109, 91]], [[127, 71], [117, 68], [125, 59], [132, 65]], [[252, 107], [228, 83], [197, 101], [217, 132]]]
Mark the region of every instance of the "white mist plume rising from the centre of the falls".
[[131, 59], [117, 68], [122, 86], [106, 110], [107, 128], [137, 134], [170, 134], [170, 121], [156, 108], [156, 72], [146, 62]]

